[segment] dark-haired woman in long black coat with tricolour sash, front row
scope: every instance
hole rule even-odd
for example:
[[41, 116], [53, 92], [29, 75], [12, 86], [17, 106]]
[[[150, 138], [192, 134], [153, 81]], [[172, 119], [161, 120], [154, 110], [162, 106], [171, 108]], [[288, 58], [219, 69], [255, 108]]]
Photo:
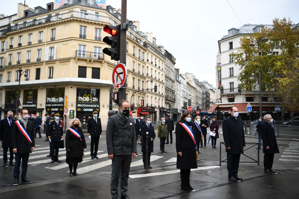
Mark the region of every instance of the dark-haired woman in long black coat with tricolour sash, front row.
[[181, 189], [185, 191], [192, 191], [190, 186], [190, 169], [197, 168], [196, 162], [196, 144], [192, 137], [188, 133], [187, 129], [191, 128], [191, 134], [195, 137], [196, 126], [191, 121], [191, 115], [189, 112], [184, 112], [181, 116], [180, 123], [176, 125], [176, 168], [181, 169]]

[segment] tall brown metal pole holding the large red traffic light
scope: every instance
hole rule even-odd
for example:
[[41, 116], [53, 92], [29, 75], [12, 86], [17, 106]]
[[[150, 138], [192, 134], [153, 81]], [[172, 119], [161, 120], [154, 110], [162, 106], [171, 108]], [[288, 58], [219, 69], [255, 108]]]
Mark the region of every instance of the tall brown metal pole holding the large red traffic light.
[[[127, 0], [121, 0], [121, 20], [120, 20], [120, 63], [126, 64], [126, 30], [123, 29], [123, 24], [127, 22]], [[126, 100], [126, 84], [119, 89], [119, 99]]]

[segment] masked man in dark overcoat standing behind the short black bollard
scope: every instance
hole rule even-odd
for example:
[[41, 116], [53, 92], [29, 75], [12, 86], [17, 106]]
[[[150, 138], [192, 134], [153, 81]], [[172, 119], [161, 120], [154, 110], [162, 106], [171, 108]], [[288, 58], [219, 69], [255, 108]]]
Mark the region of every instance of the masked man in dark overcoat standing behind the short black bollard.
[[[154, 139], [156, 137], [155, 134], [155, 130], [154, 127], [152, 125], [150, 125], [151, 123], [151, 118], [149, 116], [147, 116], [145, 118], [145, 124], [143, 126], [141, 126], [141, 130], [140, 130], [140, 134], [142, 136], [142, 143], [141, 143], [141, 152], [142, 152], [142, 160], [143, 160], [143, 166], [145, 169], [145, 162], [148, 162], [148, 168], [152, 169], [152, 167], [150, 166], [150, 154], [151, 152], [154, 152]], [[146, 160], [146, 143], [147, 143], [147, 132], [149, 132], [148, 134], [148, 146], [149, 146], [149, 150], [148, 150], [148, 159]]]

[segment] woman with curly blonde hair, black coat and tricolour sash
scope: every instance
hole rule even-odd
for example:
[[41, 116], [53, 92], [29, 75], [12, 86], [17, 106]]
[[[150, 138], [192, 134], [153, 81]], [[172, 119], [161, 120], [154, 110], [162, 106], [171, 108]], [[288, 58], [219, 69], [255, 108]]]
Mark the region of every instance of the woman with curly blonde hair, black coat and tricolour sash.
[[65, 135], [65, 162], [68, 163], [68, 167], [70, 169], [70, 176], [78, 175], [77, 166], [78, 163], [82, 162], [83, 151], [87, 148], [85, 137], [80, 127], [81, 123], [79, 119], [75, 118], [71, 120], [70, 128], [66, 131]]

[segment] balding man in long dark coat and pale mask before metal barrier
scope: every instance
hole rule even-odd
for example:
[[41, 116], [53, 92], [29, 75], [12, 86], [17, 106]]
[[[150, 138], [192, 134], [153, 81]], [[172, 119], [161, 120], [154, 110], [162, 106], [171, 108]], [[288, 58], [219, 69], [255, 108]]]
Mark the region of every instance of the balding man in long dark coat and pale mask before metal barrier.
[[242, 120], [238, 118], [238, 108], [232, 107], [231, 116], [223, 121], [222, 132], [227, 156], [228, 179], [243, 180], [238, 177], [241, 153], [245, 147], [245, 135]]

